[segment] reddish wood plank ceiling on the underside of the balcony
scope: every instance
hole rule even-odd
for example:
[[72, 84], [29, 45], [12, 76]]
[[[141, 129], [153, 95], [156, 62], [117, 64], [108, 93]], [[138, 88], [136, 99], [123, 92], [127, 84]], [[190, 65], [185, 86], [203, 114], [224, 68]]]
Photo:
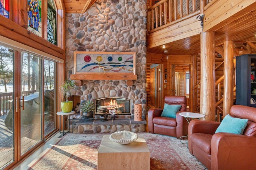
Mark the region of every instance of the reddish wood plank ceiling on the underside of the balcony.
[[[239, 18], [229, 23], [223, 23], [222, 27], [214, 31], [215, 47], [222, 45], [226, 40], [233, 40], [234, 43], [256, 43], [256, 8], [243, 11]], [[161, 45], [147, 49], [147, 52], [162, 55], [194, 55], [200, 53], [200, 34], [165, 44], [165, 46], [166, 49], [163, 49]], [[164, 53], [165, 50], [168, 53]]]

